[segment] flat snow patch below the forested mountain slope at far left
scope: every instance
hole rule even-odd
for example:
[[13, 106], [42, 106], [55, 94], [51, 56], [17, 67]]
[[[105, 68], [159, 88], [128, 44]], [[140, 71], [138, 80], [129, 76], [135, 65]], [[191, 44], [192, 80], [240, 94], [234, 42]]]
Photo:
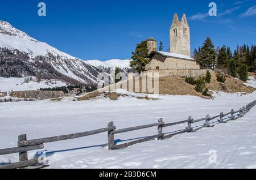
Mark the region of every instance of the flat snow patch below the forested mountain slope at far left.
[[46, 84], [47, 81], [42, 80], [40, 83], [36, 81], [30, 81], [28, 83], [24, 83], [24, 78], [0, 77], [0, 92], [34, 91], [40, 88], [63, 87], [67, 85], [61, 82], [60, 80], [51, 80], [51, 82], [52, 83]]

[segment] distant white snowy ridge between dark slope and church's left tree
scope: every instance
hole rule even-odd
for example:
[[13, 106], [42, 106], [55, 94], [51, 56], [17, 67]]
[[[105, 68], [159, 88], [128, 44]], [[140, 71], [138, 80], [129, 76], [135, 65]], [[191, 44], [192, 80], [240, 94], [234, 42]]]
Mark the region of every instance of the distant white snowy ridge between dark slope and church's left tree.
[[125, 59], [125, 60], [121, 60], [121, 59], [111, 59], [109, 61], [99, 61], [99, 60], [88, 60], [85, 61], [85, 63], [88, 63], [89, 65], [95, 66], [95, 67], [110, 67], [110, 68], [115, 68], [115, 67], [119, 67], [122, 69], [125, 68], [130, 68], [130, 59]]

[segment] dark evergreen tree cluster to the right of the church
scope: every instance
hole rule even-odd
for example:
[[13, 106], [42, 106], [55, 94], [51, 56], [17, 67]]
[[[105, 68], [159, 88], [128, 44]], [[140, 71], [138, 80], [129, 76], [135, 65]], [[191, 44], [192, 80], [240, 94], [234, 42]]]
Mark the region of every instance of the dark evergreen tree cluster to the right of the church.
[[212, 40], [207, 37], [203, 46], [198, 50], [195, 49], [193, 57], [202, 69], [218, 68], [245, 82], [248, 78], [248, 71], [256, 71], [256, 45], [237, 46], [232, 53], [232, 50], [225, 45], [214, 49]]

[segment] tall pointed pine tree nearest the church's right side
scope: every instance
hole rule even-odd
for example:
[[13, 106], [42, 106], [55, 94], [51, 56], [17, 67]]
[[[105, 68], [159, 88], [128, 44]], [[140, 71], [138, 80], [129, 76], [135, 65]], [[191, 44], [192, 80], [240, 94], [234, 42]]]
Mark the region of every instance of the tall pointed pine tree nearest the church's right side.
[[210, 40], [209, 37], [207, 37], [207, 40], [205, 40], [196, 60], [201, 68], [214, 68], [216, 62], [216, 52], [214, 50], [212, 40]]

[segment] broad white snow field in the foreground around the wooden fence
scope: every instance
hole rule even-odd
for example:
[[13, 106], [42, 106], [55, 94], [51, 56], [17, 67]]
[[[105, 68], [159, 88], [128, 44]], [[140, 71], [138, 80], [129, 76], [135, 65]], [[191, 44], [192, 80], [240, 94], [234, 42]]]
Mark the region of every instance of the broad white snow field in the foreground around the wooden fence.
[[[248, 84], [256, 87], [252, 78]], [[187, 119], [189, 115], [194, 119], [213, 116], [240, 109], [256, 99], [256, 92], [215, 93], [215, 96], [214, 100], [159, 95], [159, 100], [120, 97], [118, 101], [108, 98], [72, 101], [72, 97], [66, 97], [59, 102], [6, 102], [0, 106], [0, 148], [15, 147], [20, 134], [35, 139], [94, 130], [106, 127], [110, 121], [117, 128], [125, 128], [155, 123], [159, 118], [169, 123]], [[108, 150], [106, 132], [47, 143], [44, 150], [49, 168], [256, 168], [255, 109], [236, 121], [117, 151]], [[164, 128], [164, 132], [186, 126]], [[126, 143], [156, 132], [156, 127], [152, 127], [115, 135], [115, 140], [118, 144]], [[209, 162], [212, 152], [217, 152], [216, 164]], [[34, 155], [36, 151], [28, 153], [29, 158]], [[0, 156], [0, 163], [15, 161], [17, 154]]]

